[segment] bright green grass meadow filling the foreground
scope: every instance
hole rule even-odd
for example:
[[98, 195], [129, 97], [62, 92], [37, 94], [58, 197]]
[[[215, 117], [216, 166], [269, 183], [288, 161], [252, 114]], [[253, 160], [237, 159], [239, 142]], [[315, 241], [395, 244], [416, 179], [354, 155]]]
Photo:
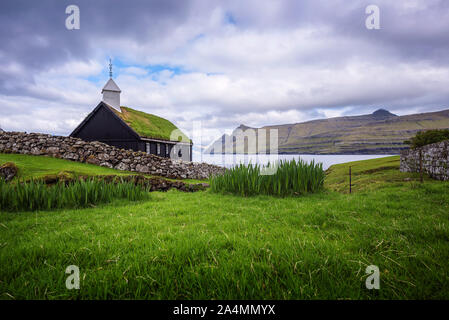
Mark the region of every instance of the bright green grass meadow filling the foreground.
[[[0, 213], [0, 298], [447, 299], [449, 183], [420, 184], [398, 157], [351, 165], [353, 194], [343, 164], [301, 197], [169, 191]], [[65, 287], [69, 265], [80, 290]]]

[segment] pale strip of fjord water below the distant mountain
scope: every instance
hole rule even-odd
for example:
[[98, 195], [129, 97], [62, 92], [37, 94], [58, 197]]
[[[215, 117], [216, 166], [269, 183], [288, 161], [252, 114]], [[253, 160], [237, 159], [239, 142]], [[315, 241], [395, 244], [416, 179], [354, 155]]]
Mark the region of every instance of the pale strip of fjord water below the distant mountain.
[[216, 164], [219, 166], [230, 168], [239, 163], [258, 163], [267, 164], [268, 162], [273, 163], [276, 160], [291, 160], [301, 158], [307, 162], [315, 160], [315, 163], [321, 162], [323, 164], [323, 169], [326, 170], [330, 166], [339, 163], [358, 161], [358, 160], [368, 160], [375, 158], [390, 157], [391, 155], [381, 154], [338, 154], [338, 155], [314, 155], [314, 154], [279, 154], [279, 155], [244, 155], [244, 154], [199, 154], [193, 153], [194, 162], [206, 162], [209, 164]]

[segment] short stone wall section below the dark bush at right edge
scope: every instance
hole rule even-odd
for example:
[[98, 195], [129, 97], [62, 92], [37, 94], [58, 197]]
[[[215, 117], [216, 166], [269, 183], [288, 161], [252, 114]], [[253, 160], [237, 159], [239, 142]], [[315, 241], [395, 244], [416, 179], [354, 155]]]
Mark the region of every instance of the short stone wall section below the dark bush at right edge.
[[419, 172], [420, 152], [423, 171], [437, 180], [449, 180], [449, 140], [401, 152], [402, 172]]

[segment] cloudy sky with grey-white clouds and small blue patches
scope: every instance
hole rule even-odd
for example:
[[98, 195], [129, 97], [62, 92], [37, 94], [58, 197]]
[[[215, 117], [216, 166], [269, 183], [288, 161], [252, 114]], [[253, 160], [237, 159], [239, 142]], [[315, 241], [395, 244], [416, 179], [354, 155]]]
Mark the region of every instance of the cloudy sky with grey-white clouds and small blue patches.
[[[65, 27], [72, 4], [79, 30]], [[109, 57], [123, 105], [186, 132], [201, 122], [203, 143], [241, 123], [449, 108], [445, 0], [2, 0], [0, 43], [8, 131], [69, 134], [101, 100]]]

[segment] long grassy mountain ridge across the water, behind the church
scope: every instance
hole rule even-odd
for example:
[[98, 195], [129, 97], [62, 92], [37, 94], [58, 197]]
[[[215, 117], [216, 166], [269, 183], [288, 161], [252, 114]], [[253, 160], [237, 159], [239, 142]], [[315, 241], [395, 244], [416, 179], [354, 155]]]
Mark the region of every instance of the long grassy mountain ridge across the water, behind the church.
[[[260, 129], [278, 130], [278, 152], [281, 154], [398, 154], [408, 148], [404, 141], [418, 131], [445, 128], [449, 128], [449, 110], [397, 116], [388, 110], [379, 109], [367, 115], [265, 126]], [[245, 146], [241, 143], [244, 136], [251, 135], [259, 140], [257, 128], [242, 124], [231, 135], [225, 134], [215, 141], [205, 153], [224, 153], [224, 150], [232, 150], [228, 153], [256, 153], [259, 151], [256, 147], [250, 148], [248, 152], [248, 143]], [[223, 144], [225, 141], [227, 143]]]

